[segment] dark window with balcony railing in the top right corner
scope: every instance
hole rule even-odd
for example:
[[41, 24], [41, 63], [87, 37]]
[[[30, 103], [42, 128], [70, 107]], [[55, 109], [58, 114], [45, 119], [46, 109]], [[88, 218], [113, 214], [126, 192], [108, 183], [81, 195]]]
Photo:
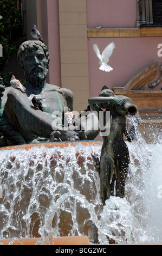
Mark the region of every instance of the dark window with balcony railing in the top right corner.
[[137, 27], [162, 26], [162, 1], [137, 0]]

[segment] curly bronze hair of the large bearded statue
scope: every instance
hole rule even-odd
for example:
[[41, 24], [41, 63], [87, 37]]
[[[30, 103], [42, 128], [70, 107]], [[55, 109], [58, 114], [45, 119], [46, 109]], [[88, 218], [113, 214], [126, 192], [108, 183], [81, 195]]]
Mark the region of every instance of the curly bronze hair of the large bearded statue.
[[47, 69], [48, 69], [50, 58], [49, 58], [49, 52], [48, 52], [47, 46], [44, 45], [43, 42], [41, 42], [41, 41], [30, 40], [30, 41], [23, 42], [22, 45], [19, 47], [18, 52], [17, 52], [18, 64], [20, 65], [20, 68], [21, 68], [22, 71], [24, 70], [22, 53], [25, 50], [33, 52], [35, 49], [37, 49], [40, 46], [43, 48], [44, 54], [47, 58]]

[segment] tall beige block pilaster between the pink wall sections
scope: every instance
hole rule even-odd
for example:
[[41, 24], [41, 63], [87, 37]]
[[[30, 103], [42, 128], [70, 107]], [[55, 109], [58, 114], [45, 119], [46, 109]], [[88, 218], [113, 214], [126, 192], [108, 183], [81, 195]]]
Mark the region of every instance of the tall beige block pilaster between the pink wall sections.
[[61, 87], [74, 93], [74, 110], [88, 105], [86, 0], [59, 0]]

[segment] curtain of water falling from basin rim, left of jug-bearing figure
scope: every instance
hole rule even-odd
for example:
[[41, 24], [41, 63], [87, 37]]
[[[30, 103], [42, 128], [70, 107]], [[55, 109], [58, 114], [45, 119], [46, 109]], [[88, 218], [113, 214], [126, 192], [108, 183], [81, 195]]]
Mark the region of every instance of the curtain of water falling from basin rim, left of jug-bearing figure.
[[[91, 152], [94, 148], [42, 146], [30, 150], [1, 151], [3, 204], [0, 211], [0, 237], [40, 236], [39, 227], [46, 225], [44, 215], [56, 204], [53, 219], [54, 235], [80, 235], [86, 232], [90, 214], [76, 197], [76, 191], [100, 208], [99, 179], [94, 171]], [[74, 195], [73, 192], [75, 191]], [[61, 196], [72, 196], [58, 205]], [[90, 226], [91, 223], [89, 223]]]

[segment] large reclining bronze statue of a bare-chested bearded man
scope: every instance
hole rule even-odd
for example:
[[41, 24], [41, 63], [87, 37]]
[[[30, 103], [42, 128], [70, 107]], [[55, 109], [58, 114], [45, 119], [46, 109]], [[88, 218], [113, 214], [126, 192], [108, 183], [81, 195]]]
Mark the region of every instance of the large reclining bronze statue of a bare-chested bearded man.
[[[41, 41], [23, 42], [17, 52], [17, 59], [27, 80], [23, 84], [25, 93], [6, 88], [2, 106], [5, 118], [22, 136], [21, 144], [46, 142], [50, 138], [57, 140], [55, 132], [58, 141], [94, 139], [98, 135], [99, 130], [95, 128], [93, 131], [92, 126], [85, 131], [63, 129], [64, 109], [73, 111], [73, 93], [69, 89], [46, 83], [50, 58], [48, 48]], [[34, 96], [41, 101], [43, 111], [33, 107], [31, 100]], [[13, 140], [10, 142], [14, 144]]]

